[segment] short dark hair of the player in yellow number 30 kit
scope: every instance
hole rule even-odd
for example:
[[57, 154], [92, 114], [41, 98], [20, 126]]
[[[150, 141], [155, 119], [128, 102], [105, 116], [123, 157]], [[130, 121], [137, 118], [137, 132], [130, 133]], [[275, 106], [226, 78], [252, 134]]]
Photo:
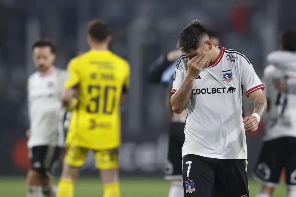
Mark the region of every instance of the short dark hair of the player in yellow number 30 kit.
[[88, 34], [97, 42], [103, 42], [110, 35], [108, 24], [94, 19], [88, 23]]

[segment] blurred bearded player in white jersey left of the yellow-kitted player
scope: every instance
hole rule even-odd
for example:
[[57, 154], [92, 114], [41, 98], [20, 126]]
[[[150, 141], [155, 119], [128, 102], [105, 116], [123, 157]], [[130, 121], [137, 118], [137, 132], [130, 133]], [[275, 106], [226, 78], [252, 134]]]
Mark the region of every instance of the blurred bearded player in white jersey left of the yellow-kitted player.
[[31, 169], [27, 175], [27, 197], [55, 197], [51, 178], [58, 165], [64, 144], [61, 94], [65, 71], [53, 66], [54, 45], [37, 40], [32, 47], [37, 72], [28, 79], [28, 132]]

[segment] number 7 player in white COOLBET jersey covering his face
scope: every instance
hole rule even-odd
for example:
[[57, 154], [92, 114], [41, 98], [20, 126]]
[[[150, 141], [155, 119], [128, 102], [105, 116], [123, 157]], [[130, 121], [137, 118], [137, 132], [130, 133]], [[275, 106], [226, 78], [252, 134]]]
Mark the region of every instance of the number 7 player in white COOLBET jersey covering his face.
[[[249, 197], [245, 131], [258, 129], [267, 107], [264, 86], [246, 56], [214, 46], [197, 20], [183, 29], [177, 46], [185, 55], [176, 67], [171, 105], [188, 114], [184, 196]], [[255, 105], [244, 119], [242, 87]]]

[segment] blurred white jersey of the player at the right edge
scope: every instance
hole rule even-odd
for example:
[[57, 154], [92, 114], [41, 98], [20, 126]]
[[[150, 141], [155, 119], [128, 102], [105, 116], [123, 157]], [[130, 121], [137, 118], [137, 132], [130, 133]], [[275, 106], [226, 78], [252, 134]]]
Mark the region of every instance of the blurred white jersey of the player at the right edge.
[[[268, 99], [266, 127], [263, 141], [280, 137], [296, 137], [296, 55], [292, 52], [274, 51], [267, 56], [270, 63], [263, 72]], [[287, 92], [281, 93], [274, 87], [274, 80], [286, 81]], [[292, 83], [291, 83], [292, 82]]]

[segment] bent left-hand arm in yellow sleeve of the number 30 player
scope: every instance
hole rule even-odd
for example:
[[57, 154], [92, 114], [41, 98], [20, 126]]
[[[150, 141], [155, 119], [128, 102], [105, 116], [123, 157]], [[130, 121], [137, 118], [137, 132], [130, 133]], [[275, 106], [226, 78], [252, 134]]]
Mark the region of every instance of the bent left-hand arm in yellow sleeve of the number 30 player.
[[72, 59], [67, 66], [67, 76], [64, 91], [62, 92], [62, 103], [68, 110], [78, 103], [76, 96], [79, 82], [80, 77], [76, 68], [76, 61]]

